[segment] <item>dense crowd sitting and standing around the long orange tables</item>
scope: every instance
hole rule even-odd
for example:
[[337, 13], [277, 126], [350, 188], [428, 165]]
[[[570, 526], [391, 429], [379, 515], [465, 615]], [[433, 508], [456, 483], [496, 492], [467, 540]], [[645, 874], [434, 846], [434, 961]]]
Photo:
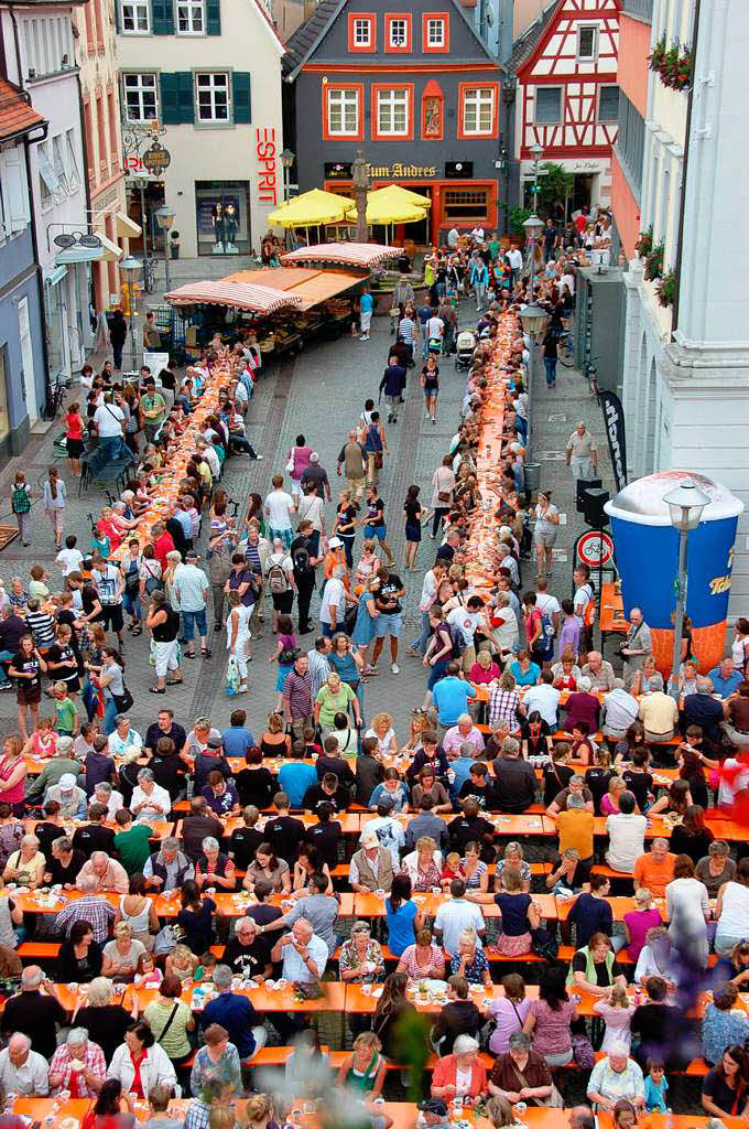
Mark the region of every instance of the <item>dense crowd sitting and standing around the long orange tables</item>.
[[[468, 262], [486, 265], [484, 243], [478, 231], [467, 240]], [[138, 413], [123, 411], [133, 480], [85, 550], [63, 517], [52, 522], [55, 543], [64, 537], [62, 585], [55, 576], [53, 590], [35, 564], [0, 589], [0, 669], [18, 703], [0, 754], [0, 971], [19, 978], [0, 1021], [6, 1092], [91, 1099], [90, 1124], [142, 1117], [148, 1104], [149, 1124], [169, 1129], [265, 1129], [301, 1099], [335, 1109], [354, 1097], [388, 1129], [381, 1099], [402, 1082], [417, 1088], [426, 1067], [424, 1126], [470, 1105], [500, 1129], [528, 1105], [562, 1105], [575, 1066], [587, 1104], [572, 1123], [589, 1129], [596, 1111], [613, 1111], [628, 1129], [644, 1110], [669, 1110], [697, 1061], [703, 1109], [749, 1114], [749, 858], [733, 820], [749, 784], [749, 622], [710, 676], [686, 632], [675, 698], [637, 609], [618, 672], [593, 647], [589, 570], [575, 571], [572, 599], [549, 593], [558, 514], [545, 493], [531, 504], [523, 476], [534, 342], [518, 318], [530, 297], [522, 256], [482, 310], [430, 505], [413, 484], [398, 515], [405, 570], [424, 551], [423, 530], [435, 542], [421, 630], [406, 640], [405, 660], [423, 664], [423, 701], [408, 732], [368, 702], [386, 640], [390, 675], [404, 660], [405, 585], [379, 491], [387, 429], [414, 365], [437, 418], [453, 251], [435, 252], [425, 322], [396, 294], [388, 415], [367, 400], [351, 421], [329, 527], [333, 487], [303, 434], [267, 496], [250, 496], [241, 519], [230, 513], [221, 469], [245, 450], [232, 420], [259, 368], [252, 343], [217, 347], [176, 380], [173, 405], [147, 379]], [[540, 297], [562, 317], [574, 255], [555, 234], [546, 259]], [[484, 306], [475, 275], [460, 286]], [[477, 455], [497, 379], [487, 588], [472, 580], [469, 537], [485, 513]], [[124, 399], [107, 383], [105, 373], [91, 388], [105, 410]], [[217, 384], [219, 406], [196, 435], [186, 421]], [[96, 435], [102, 405], [89, 417], [97, 445], [109, 438], [100, 426]], [[570, 441], [578, 476], [592, 457], [585, 434], [581, 425]], [[159, 480], [187, 438], [187, 473], [152, 520]], [[61, 482], [50, 474], [45, 508], [64, 498]], [[24, 490], [30, 506], [17, 480]], [[15, 511], [24, 535], [28, 509]], [[226, 632], [227, 690], [249, 693], [266, 620], [277, 679], [263, 732], [243, 708], [223, 728], [173, 708], [168, 686], [197, 646], [218, 660], [212, 632]], [[125, 632], [143, 629], [149, 690], [167, 697], [138, 727], [123, 650]], [[624, 912], [613, 889], [629, 899]], [[51, 946], [46, 973], [46, 951], [29, 959], [25, 945]], [[326, 989], [334, 983], [344, 996]], [[290, 986], [297, 1006], [263, 1004]], [[326, 991], [333, 1014], [345, 1000], [334, 1050], [323, 1047]], [[257, 1062], [276, 1044], [289, 1053], [266, 1084]], [[186, 1109], [170, 1104], [175, 1094], [188, 1095]]]

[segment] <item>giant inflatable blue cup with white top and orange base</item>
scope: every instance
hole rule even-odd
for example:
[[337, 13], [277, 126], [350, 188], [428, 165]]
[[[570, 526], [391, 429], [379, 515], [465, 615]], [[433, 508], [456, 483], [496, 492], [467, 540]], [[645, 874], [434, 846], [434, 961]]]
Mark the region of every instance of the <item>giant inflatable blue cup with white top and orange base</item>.
[[605, 507], [611, 519], [625, 615], [633, 607], [642, 610], [653, 633], [658, 668], [664, 675], [673, 657], [679, 534], [663, 497], [685, 481], [710, 498], [699, 525], [689, 533], [686, 602], [694, 649], [700, 671], [706, 672], [725, 651], [733, 542], [743, 502], [702, 474], [660, 471], [631, 482]]

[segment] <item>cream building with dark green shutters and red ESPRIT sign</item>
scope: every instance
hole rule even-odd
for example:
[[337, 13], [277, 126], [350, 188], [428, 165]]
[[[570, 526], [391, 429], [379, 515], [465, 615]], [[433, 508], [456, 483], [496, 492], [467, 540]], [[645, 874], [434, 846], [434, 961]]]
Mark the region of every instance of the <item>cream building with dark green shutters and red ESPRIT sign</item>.
[[[230, 271], [233, 255], [259, 252], [283, 198], [283, 44], [262, 0], [116, 3], [127, 178], [143, 178], [148, 215], [160, 203], [175, 212], [180, 256], [221, 255]], [[168, 154], [164, 169], [153, 142]]]

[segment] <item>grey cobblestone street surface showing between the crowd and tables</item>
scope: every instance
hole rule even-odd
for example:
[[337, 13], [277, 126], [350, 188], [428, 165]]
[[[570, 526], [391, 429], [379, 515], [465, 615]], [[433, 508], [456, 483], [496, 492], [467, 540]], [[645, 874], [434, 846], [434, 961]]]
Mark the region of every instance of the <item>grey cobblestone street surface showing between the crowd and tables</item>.
[[[461, 315], [461, 325], [475, 323], [473, 304], [465, 301]], [[326, 507], [326, 524], [328, 530], [331, 528], [337, 501], [336, 488], [343, 483], [343, 480], [336, 479], [335, 475], [336, 457], [367, 396], [377, 400], [389, 341], [388, 320], [376, 318], [369, 341], [360, 342], [355, 338], [342, 338], [336, 342], [314, 343], [300, 356], [283, 364], [280, 369], [273, 369], [261, 379], [247, 417], [247, 435], [255, 449], [264, 454], [264, 461], [255, 463], [241, 455], [233, 456], [228, 461], [222, 480], [222, 485], [229, 495], [240, 504], [240, 519], [246, 513], [248, 493], [258, 491], [263, 497], [267, 493], [272, 475], [283, 473], [289, 448], [296, 436], [303, 432], [307, 441], [319, 453], [320, 463], [331, 476], [333, 502]], [[365, 685], [364, 712], [369, 720], [378, 710], [390, 711], [396, 719], [398, 737], [403, 739], [407, 732], [408, 714], [415, 704], [421, 703], [424, 693], [424, 669], [421, 663], [409, 658], [405, 650], [420, 618], [417, 604], [423, 572], [433, 560], [435, 551], [435, 543], [429, 539], [425, 531], [417, 562], [418, 570], [405, 572], [403, 501], [407, 487], [414, 482], [422, 488], [422, 504], [429, 506], [431, 476], [447, 449], [450, 437], [456, 431], [465, 384], [465, 374], [456, 373], [452, 359], [441, 364], [440, 368], [441, 392], [437, 427], [431, 426], [425, 418], [424, 401], [418, 386], [418, 369], [412, 369], [408, 374], [406, 402], [400, 410], [398, 422], [387, 428], [390, 454], [385, 460], [381, 475], [381, 492], [386, 502], [389, 528], [388, 542], [395, 554], [398, 575], [406, 588], [404, 637], [398, 659], [400, 674], [396, 676], [390, 673], [389, 655], [385, 653], [380, 662], [380, 674], [368, 680]], [[555, 595], [562, 598], [569, 594], [571, 577], [570, 562], [562, 557], [569, 554], [574, 537], [582, 527], [580, 517], [574, 510], [572, 479], [563, 458], [567, 436], [578, 419], [585, 419], [597, 436], [603, 467], [608, 466], [608, 455], [603, 450], [600, 410], [596, 401], [589, 396], [580, 375], [573, 369], [559, 367], [556, 390], [547, 391], [540, 362], [536, 371], [531, 421], [532, 447], [529, 461], [541, 463], [541, 485], [554, 489], [554, 501], [559, 510], [567, 515], [567, 523], [561, 530], [557, 541], [557, 549], [561, 552], [557, 554], [559, 559], [556, 561], [552, 584]], [[73, 388], [70, 399], [74, 399], [74, 395]], [[44, 437], [33, 439], [23, 460], [23, 466], [37, 497], [47, 466], [54, 457], [53, 439], [59, 434], [60, 427], [55, 425]], [[3, 469], [2, 497], [6, 504], [2, 507], [2, 520], [5, 522], [12, 522], [12, 517], [8, 514], [8, 487], [10, 475], [18, 465], [19, 461], [12, 461]], [[91, 532], [89, 515], [98, 514], [103, 496], [89, 491], [79, 499], [78, 484], [71, 483], [67, 463], [58, 461], [58, 465], [70, 492], [65, 533], [77, 534], [79, 548], [86, 548]], [[610, 482], [605, 484], [610, 489]], [[355, 554], [360, 543], [361, 533], [358, 534], [354, 546]], [[204, 545], [205, 531], [201, 549]], [[41, 504], [36, 501], [32, 514], [32, 545], [29, 549], [24, 549], [20, 541], [15, 540], [0, 554], [0, 575], [9, 586], [16, 572], [27, 579], [29, 567], [34, 562], [42, 562], [50, 572], [51, 590], [58, 590], [61, 574], [54, 564], [54, 555], [51, 527]], [[534, 571], [529, 564], [525, 566], [526, 583], [532, 581]], [[318, 609], [319, 597], [316, 595], [312, 603], [314, 620], [317, 619]], [[228, 724], [232, 708], [240, 704], [247, 710], [253, 733], [259, 737], [268, 709], [274, 702], [277, 669], [267, 662], [274, 642], [274, 637], [270, 632], [270, 614], [265, 637], [254, 645], [254, 660], [249, 667], [250, 693], [243, 698], [229, 698], [224, 690], [227, 666], [224, 633], [214, 636], [212, 630], [210, 633], [213, 646], [212, 658], [183, 662], [184, 685], [170, 689], [169, 703], [174, 706], [177, 717], [183, 723], [191, 723], [199, 715], [208, 714], [218, 727]], [[309, 634], [301, 642], [309, 649], [314, 639], [315, 636]], [[153, 719], [157, 706], [164, 701], [164, 699], [152, 700], [147, 693], [147, 688], [152, 681], [152, 669], [148, 666], [146, 632], [140, 639], [126, 638], [125, 659], [126, 682], [135, 697], [131, 718], [142, 732]], [[15, 729], [15, 694], [0, 695], [0, 726], [3, 734]]]

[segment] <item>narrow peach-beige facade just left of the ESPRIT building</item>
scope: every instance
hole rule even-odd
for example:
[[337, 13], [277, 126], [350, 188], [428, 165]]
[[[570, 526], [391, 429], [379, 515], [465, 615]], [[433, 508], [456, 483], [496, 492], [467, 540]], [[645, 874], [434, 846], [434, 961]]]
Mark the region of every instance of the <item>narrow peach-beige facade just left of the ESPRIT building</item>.
[[120, 294], [117, 261], [123, 253], [127, 254], [127, 236], [140, 233], [126, 215], [114, 2], [88, 0], [82, 8], [73, 9], [72, 19], [77, 32], [90, 222], [96, 234], [106, 239], [104, 257], [92, 263], [94, 305], [100, 313]]

